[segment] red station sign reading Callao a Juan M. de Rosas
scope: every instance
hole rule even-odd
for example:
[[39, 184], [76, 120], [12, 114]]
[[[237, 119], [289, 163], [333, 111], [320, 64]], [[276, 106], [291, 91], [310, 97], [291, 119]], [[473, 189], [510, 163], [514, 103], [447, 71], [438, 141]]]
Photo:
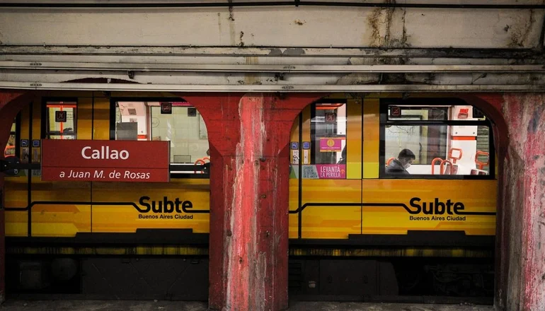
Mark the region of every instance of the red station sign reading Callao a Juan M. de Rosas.
[[168, 182], [168, 141], [42, 140], [42, 180]]

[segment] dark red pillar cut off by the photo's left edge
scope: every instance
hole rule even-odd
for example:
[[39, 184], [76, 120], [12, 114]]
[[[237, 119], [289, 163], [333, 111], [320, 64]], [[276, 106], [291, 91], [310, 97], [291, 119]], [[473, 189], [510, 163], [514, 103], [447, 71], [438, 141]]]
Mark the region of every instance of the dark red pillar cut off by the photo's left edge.
[[[11, 124], [17, 113], [28, 100], [30, 93], [16, 90], [0, 90], [0, 159], [4, 158], [4, 148], [8, 143]], [[6, 245], [4, 222], [4, 174], [0, 172], [0, 303], [6, 298]]]

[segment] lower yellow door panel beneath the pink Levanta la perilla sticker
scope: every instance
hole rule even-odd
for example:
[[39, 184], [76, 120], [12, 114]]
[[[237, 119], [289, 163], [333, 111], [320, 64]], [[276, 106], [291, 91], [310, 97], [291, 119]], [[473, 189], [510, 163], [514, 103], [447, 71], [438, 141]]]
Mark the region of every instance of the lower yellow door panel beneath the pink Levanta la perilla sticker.
[[361, 233], [362, 180], [303, 180], [302, 204], [348, 203], [354, 206], [306, 206], [303, 238], [348, 238]]

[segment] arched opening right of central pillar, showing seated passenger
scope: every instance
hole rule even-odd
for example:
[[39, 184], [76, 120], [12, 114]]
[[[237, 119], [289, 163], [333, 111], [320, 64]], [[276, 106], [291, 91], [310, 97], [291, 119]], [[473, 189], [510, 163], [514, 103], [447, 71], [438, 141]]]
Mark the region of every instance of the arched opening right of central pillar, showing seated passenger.
[[[290, 297], [492, 304], [498, 103], [338, 94], [307, 106], [290, 143]], [[409, 167], [391, 169], [404, 151]]]

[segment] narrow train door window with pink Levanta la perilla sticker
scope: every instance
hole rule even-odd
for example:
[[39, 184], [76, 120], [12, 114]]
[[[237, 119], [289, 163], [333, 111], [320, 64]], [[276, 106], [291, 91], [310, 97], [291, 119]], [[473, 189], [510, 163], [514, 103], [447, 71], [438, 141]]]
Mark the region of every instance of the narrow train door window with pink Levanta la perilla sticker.
[[345, 102], [320, 102], [311, 109], [311, 165], [320, 179], [343, 179], [346, 171]]

